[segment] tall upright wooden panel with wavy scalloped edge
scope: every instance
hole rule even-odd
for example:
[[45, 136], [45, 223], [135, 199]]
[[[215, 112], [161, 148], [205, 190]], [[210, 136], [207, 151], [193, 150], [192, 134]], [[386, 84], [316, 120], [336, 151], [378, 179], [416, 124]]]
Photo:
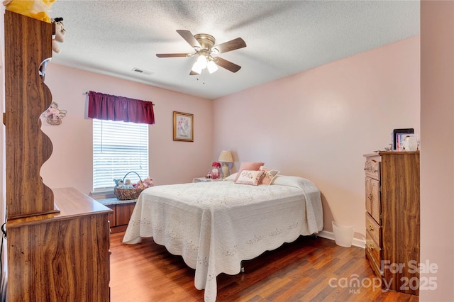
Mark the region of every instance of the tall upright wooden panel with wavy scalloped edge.
[[55, 211], [52, 190], [40, 177], [40, 167], [52, 153], [52, 142], [40, 130], [39, 118], [50, 106], [52, 94], [39, 68], [52, 57], [51, 45], [51, 23], [6, 11], [4, 123], [10, 218]]

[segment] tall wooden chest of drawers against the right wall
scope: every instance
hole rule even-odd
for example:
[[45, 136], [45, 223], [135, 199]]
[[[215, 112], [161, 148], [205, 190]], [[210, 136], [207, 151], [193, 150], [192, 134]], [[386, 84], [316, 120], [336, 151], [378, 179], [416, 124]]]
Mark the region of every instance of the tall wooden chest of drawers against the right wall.
[[382, 288], [419, 295], [419, 151], [365, 156], [365, 255]]

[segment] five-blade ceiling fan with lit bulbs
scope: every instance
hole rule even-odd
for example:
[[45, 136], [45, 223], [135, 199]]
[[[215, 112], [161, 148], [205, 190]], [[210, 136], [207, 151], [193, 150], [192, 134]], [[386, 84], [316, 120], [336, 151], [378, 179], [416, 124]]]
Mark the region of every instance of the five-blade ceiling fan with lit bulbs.
[[214, 46], [216, 40], [212, 35], [199, 33], [192, 35], [189, 30], [177, 30], [177, 33], [191, 45], [194, 53], [157, 53], [157, 57], [194, 57], [198, 55], [197, 61], [192, 66], [190, 75], [200, 74], [203, 69], [208, 69], [210, 73], [216, 72], [218, 66], [223, 67], [231, 72], [238, 72], [241, 66], [236, 65], [222, 57], [214, 57], [223, 52], [238, 50], [246, 47], [246, 43], [242, 38], [236, 38], [226, 43], [221, 43]]

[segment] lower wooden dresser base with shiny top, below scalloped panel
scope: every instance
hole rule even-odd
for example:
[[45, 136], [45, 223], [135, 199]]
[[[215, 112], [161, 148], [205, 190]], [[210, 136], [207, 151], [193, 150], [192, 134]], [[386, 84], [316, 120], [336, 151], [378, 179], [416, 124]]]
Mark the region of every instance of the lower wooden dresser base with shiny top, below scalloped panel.
[[72, 188], [55, 197], [60, 213], [7, 224], [8, 301], [109, 301], [111, 210]]

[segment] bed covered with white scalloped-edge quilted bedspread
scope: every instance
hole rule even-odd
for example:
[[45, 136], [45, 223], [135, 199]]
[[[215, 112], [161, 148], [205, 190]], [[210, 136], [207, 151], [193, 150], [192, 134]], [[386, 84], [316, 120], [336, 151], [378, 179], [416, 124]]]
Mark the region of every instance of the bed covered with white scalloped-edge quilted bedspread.
[[194, 286], [216, 301], [216, 276], [238, 274], [243, 260], [323, 229], [319, 189], [280, 175], [271, 185], [211, 181], [153, 186], [135, 205], [123, 237], [153, 237], [195, 269]]

